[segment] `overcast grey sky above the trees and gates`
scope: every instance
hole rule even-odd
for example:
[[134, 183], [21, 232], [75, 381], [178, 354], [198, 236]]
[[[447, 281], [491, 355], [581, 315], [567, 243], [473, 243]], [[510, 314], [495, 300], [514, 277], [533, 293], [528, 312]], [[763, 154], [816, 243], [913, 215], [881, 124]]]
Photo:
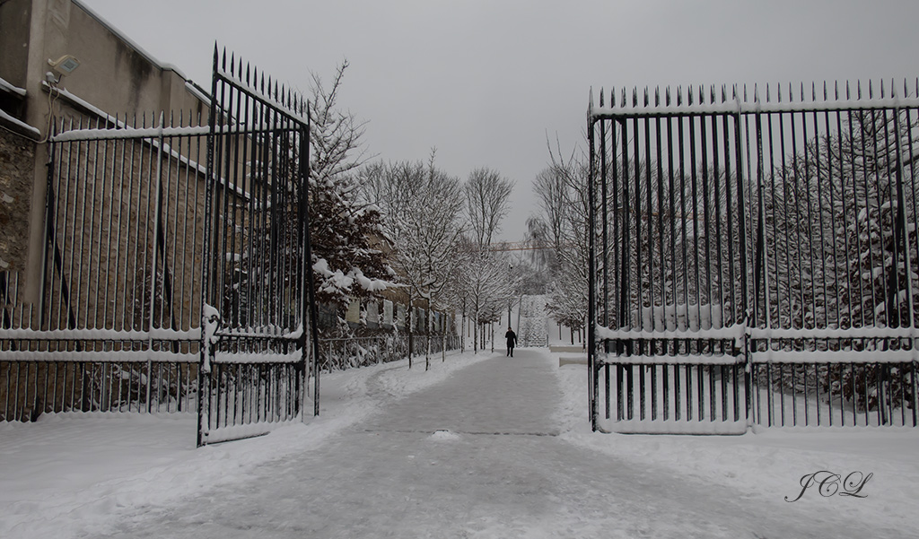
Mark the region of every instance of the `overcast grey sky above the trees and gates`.
[[582, 143], [590, 88], [919, 75], [916, 0], [83, 0], [210, 87], [214, 42], [309, 93], [350, 62], [341, 105], [369, 153], [516, 182], [522, 239], [547, 135]]

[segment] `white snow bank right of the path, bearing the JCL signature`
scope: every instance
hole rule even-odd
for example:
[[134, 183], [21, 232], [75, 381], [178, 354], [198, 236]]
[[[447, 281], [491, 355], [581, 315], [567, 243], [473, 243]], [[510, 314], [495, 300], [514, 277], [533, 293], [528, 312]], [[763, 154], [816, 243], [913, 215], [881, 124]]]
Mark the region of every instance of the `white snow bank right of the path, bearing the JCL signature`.
[[[560, 411], [562, 438], [616, 462], [669, 473], [674, 481], [704, 480], [715, 487], [741, 493], [754, 506], [786, 504], [801, 493], [802, 477], [828, 471], [841, 476], [816, 482], [793, 505], [812, 512], [819, 521], [834, 517], [856, 519], [882, 530], [919, 530], [919, 429], [840, 428], [757, 429], [740, 436], [635, 435], [591, 432], [587, 410], [586, 367], [565, 365], [558, 370], [564, 390]], [[850, 476], [851, 474], [851, 476]], [[840, 495], [841, 480], [864, 483], [858, 496]], [[665, 496], [666, 493], [661, 493]], [[859, 496], [864, 496], [861, 498]]]

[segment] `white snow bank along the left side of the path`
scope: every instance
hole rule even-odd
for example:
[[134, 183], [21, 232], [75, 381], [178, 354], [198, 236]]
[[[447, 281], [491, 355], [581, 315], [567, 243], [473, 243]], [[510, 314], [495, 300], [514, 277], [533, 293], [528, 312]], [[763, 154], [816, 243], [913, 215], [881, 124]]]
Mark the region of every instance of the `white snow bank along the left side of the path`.
[[[321, 410], [267, 436], [195, 448], [197, 415], [45, 414], [0, 422], [0, 537], [73, 537], [115, 511], [162, 505], [244, 480], [267, 461], [309, 450], [380, 405], [437, 384], [489, 354], [448, 354], [325, 374]], [[424, 359], [424, 358], [422, 358]], [[312, 399], [308, 404], [312, 410]]]

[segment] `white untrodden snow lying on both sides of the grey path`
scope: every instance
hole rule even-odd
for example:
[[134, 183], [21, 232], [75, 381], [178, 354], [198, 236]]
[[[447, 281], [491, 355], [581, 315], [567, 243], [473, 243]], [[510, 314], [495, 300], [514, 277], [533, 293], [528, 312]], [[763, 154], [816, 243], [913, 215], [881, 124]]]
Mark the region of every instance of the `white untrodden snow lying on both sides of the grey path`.
[[[557, 355], [550, 356], [548, 351], [524, 352], [531, 353], [529, 357], [541, 362], [540, 365], [558, 365]], [[496, 355], [503, 354], [502, 351]], [[123, 515], [137, 518], [147, 511], [181, 504], [182, 500], [215, 488], [244, 484], [256, 469], [264, 469], [259, 465], [331, 444], [335, 434], [346, 432], [348, 427], [380, 410], [396, 406], [406, 396], [458, 376], [459, 369], [491, 357], [494, 356], [452, 354], [445, 363], [433, 361], [427, 372], [423, 363], [415, 364], [422, 368], [409, 370], [403, 361], [323, 376], [319, 418], [282, 427], [267, 436], [202, 449], [194, 447], [192, 415], [50, 414], [36, 423], [0, 423], [0, 537], [94, 536], [95, 531], [110, 531]], [[700, 437], [594, 433], [585, 420], [584, 365], [553, 367], [546, 372], [558, 375], [562, 389], [561, 398], [552, 396], [549, 400], [557, 408], [550, 421], [553, 432], [559, 432], [562, 441], [587, 452], [577, 453], [579, 458], [596, 457], [597, 463], [615, 462], [632, 476], [646, 475], [649, 483], [644, 495], [648, 500], [666, 499], [671, 494], [669, 488], [664, 488], [666, 485], [674, 485], [677, 490], [690, 488], [688, 491], [723, 488], [743, 493], [737, 505], [750, 515], [771, 511], [769, 508], [780, 511], [788, 506], [794, 508], [796, 515], [812, 514], [816, 521], [826, 522], [827, 530], [838, 525], [834, 522], [859, 522], [876, 537], [919, 535], [919, 511], [915, 511], [919, 502], [919, 432], [915, 429], [772, 430], [743, 436]], [[545, 391], [539, 387], [534, 390]], [[528, 391], [528, 387], [519, 389]], [[477, 397], [474, 391], [468, 395], [468, 402], [460, 398], [449, 406], [460, 409], [468, 406], [470, 410], [481, 411], [481, 405], [475, 401], [481, 396]], [[534, 401], [539, 397], [534, 395]], [[413, 417], [403, 417], [405, 426], [411, 426], [413, 421]], [[435, 432], [431, 439], [438, 437], [437, 441], [449, 443], [462, 436], [456, 432]], [[532, 440], [535, 444], [549, 439]], [[557, 444], [552, 447], [552, 451], [559, 451]], [[480, 458], [487, 459], [489, 455]], [[558, 466], [563, 468], [564, 463]], [[864, 498], [845, 497], [838, 492], [824, 497], [814, 487], [798, 501], [784, 500], [798, 497], [801, 477], [823, 470], [842, 477], [856, 472], [862, 477], [872, 474], [859, 492]], [[417, 470], [413, 468], [412, 473]], [[833, 491], [834, 483], [827, 482], [825, 486], [830, 488], [824, 490], [828, 494]], [[359, 491], [361, 485], [352, 488]], [[631, 488], [641, 489], [641, 486]], [[524, 497], [532, 493], [527, 488], [520, 491], [521, 500], [529, 500]], [[674, 503], [680, 507], [684, 502]], [[686, 503], [691, 506], [691, 501]], [[690, 506], [686, 511], [694, 511]], [[608, 535], [602, 536], [630, 536], [636, 529], [625, 523], [616, 528], [616, 524], [609, 523], [615, 521], [607, 520], [616, 515], [597, 515], [589, 508], [584, 508], [581, 514], [578, 507], [581, 506], [566, 506], [565, 518], [572, 522], [604, 522]], [[651, 518], [641, 529], [649, 531], [651, 536], [674, 536], [672, 528], [664, 523], [655, 528], [657, 525]], [[556, 530], [551, 536], [565, 536], [565, 528], [543, 527]], [[502, 529], [493, 522], [474, 536], [500, 537]]]

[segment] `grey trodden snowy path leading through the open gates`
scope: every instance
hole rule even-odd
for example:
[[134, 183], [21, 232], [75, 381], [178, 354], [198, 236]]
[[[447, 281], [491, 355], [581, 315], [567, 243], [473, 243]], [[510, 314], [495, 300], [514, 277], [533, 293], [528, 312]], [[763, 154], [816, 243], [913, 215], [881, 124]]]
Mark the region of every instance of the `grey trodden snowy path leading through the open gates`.
[[898, 536], [562, 440], [550, 361], [496, 356], [394, 401], [370, 378], [378, 413], [245, 482], [122, 514], [108, 536]]

